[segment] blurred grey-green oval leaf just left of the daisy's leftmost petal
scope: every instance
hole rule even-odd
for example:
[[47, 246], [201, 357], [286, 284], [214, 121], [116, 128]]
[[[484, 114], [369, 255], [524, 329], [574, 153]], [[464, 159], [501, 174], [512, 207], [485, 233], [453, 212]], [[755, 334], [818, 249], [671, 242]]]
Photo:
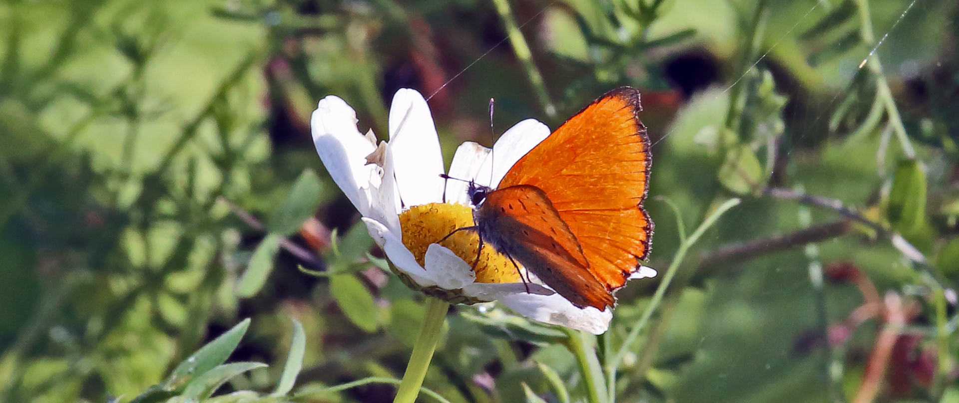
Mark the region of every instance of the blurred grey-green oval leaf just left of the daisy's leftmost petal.
[[306, 168], [293, 184], [287, 198], [269, 214], [267, 229], [272, 234], [290, 235], [299, 231], [303, 221], [316, 213], [322, 184], [316, 172]]

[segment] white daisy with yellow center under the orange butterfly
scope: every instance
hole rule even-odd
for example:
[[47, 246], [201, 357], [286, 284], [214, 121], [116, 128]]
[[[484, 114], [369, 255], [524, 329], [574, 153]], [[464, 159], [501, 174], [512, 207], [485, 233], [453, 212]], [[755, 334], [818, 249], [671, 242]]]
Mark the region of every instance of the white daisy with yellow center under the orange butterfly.
[[[316, 152], [407, 285], [448, 302], [499, 301], [535, 321], [606, 331], [611, 309], [578, 308], [525, 270], [531, 281], [524, 283], [492, 248], [477, 256], [475, 233], [460, 231], [437, 243], [457, 228], [472, 226], [473, 211], [467, 184], [440, 177], [439, 138], [419, 92], [401, 89], [393, 97], [388, 142], [376, 144], [372, 131], [361, 134], [357, 123], [356, 112], [339, 97], [319, 101], [311, 119]], [[506, 171], [549, 135], [546, 124], [527, 119], [506, 130], [492, 151], [464, 143], [456, 148], [449, 176], [495, 189]], [[643, 267], [633, 277], [655, 275]]]

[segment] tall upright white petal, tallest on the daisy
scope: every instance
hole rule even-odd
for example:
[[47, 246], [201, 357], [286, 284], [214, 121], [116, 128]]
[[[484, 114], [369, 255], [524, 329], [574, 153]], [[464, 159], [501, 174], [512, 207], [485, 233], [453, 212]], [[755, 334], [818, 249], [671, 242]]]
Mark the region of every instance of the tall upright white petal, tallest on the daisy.
[[403, 203], [418, 206], [442, 201], [443, 154], [430, 106], [418, 91], [404, 88], [393, 96], [389, 146]]

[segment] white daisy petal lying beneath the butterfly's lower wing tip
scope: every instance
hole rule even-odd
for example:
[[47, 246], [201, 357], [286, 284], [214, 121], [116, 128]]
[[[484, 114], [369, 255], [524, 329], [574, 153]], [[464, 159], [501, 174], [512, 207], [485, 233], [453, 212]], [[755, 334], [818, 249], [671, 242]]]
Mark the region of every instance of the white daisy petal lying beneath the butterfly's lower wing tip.
[[593, 334], [602, 334], [609, 328], [613, 311], [600, 311], [592, 306], [580, 309], [559, 294], [512, 294], [500, 299], [504, 305], [526, 318], [550, 325], [561, 325]]

